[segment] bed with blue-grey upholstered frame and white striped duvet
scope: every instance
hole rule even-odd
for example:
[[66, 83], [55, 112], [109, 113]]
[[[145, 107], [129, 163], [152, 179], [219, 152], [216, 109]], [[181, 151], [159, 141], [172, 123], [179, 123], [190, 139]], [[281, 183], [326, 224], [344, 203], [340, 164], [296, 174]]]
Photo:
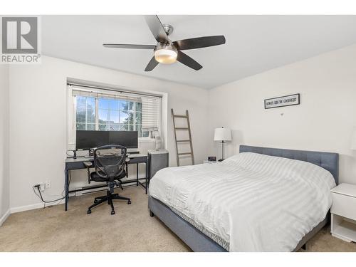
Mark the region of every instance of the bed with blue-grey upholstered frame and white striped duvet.
[[337, 153], [246, 145], [239, 151], [222, 163], [157, 172], [150, 215], [193, 251], [298, 251], [328, 222]]

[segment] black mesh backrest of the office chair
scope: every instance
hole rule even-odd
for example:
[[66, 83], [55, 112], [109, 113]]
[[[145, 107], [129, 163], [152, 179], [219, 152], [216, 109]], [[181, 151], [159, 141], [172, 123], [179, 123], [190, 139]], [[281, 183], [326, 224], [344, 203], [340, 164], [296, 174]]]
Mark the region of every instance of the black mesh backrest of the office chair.
[[[116, 152], [108, 152], [115, 148]], [[125, 173], [127, 148], [122, 145], [104, 145], [94, 150], [94, 167], [99, 177], [113, 182]]]

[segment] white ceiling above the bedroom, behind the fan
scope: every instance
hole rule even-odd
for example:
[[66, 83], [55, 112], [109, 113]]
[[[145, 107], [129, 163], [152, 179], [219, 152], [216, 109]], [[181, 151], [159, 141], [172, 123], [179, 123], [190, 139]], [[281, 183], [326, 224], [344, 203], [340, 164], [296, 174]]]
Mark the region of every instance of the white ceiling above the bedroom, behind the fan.
[[226, 44], [184, 51], [203, 68], [181, 63], [145, 72], [153, 51], [103, 43], [156, 44], [143, 16], [43, 16], [42, 53], [201, 88], [261, 73], [356, 43], [356, 16], [159, 16], [172, 41], [224, 35]]

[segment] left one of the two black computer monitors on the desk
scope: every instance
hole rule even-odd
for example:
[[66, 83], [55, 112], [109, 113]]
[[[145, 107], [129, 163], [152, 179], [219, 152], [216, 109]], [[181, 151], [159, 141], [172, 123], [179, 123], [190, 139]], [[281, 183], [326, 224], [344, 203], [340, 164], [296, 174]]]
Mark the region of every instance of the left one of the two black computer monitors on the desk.
[[108, 131], [77, 130], [75, 138], [75, 150], [90, 150], [94, 147], [109, 145]]

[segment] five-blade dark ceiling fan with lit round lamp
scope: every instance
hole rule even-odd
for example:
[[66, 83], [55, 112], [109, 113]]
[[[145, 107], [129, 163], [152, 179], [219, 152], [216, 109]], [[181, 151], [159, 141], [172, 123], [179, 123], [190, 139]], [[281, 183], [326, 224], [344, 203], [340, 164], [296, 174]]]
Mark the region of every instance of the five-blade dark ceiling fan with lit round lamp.
[[153, 49], [154, 56], [148, 63], [145, 71], [153, 70], [159, 63], [172, 64], [176, 61], [183, 63], [189, 68], [200, 70], [203, 68], [193, 58], [187, 56], [182, 50], [204, 48], [209, 46], [219, 46], [225, 43], [224, 36], [204, 36], [190, 38], [172, 42], [168, 36], [172, 33], [173, 27], [169, 24], [163, 24], [156, 15], [145, 16], [146, 23], [150, 28], [153, 36], [157, 40], [157, 45], [136, 45], [136, 44], [117, 44], [104, 43], [103, 46], [108, 48], [131, 48], [131, 49]]

